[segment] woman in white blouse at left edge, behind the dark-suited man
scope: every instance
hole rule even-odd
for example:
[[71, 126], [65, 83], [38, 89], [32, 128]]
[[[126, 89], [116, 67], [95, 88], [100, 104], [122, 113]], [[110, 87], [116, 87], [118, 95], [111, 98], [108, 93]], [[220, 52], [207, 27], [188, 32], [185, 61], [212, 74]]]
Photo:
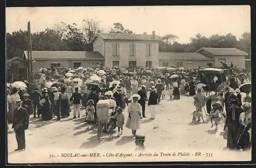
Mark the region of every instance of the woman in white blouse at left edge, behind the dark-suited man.
[[8, 113], [8, 122], [12, 123], [13, 121], [13, 111], [15, 108], [17, 108], [16, 100], [20, 99], [19, 94], [17, 93], [17, 88], [12, 88], [11, 96], [10, 96], [10, 109]]

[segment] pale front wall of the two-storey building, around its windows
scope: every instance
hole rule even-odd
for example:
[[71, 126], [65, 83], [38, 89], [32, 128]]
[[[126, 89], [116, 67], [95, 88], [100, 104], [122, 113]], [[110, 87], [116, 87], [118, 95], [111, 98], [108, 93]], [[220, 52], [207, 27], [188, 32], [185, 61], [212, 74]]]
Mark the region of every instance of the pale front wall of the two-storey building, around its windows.
[[[119, 55], [113, 56], [112, 44], [119, 44]], [[130, 55], [130, 44], [135, 44], [135, 55]], [[146, 56], [146, 44], [151, 45], [151, 56]], [[105, 41], [105, 66], [112, 68], [113, 61], [119, 61], [119, 67], [129, 67], [129, 61], [136, 61], [138, 67], [145, 67], [146, 61], [152, 61], [152, 67], [158, 66], [157, 41]]]

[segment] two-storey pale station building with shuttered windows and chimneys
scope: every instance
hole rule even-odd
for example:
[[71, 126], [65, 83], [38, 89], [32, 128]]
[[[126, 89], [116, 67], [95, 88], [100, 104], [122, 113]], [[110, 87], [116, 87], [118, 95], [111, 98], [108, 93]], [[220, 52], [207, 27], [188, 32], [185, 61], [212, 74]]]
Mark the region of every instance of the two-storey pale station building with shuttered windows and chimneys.
[[152, 35], [98, 32], [92, 40], [93, 51], [101, 53], [108, 68], [157, 67], [159, 41], [155, 31]]

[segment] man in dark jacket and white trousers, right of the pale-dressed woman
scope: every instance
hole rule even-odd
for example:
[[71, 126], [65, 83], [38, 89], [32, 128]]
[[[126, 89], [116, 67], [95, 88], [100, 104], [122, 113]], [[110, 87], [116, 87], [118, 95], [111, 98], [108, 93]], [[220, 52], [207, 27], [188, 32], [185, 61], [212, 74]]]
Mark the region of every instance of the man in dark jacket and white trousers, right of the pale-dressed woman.
[[151, 87], [151, 94], [150, 97], [148, 98], [148, 103], [147, 105], [150, 106], [150, 114], [152, 120], [155, 119], [156, 117], [156, 105], [158, 104], [158, 94], [156, 93], [156, 88], [154, 86]]

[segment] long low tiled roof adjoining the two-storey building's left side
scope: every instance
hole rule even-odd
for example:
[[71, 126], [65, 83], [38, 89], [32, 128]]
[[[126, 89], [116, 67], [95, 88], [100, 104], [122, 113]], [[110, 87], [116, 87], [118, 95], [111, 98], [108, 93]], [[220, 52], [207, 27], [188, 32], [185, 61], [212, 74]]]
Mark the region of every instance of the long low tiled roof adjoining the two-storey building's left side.
[[[27, 57], [28, 51], [24, 51]], [[98, 51], [32, 51], [33, 59], [84, 59], [84, 60], [104, 60]]]

